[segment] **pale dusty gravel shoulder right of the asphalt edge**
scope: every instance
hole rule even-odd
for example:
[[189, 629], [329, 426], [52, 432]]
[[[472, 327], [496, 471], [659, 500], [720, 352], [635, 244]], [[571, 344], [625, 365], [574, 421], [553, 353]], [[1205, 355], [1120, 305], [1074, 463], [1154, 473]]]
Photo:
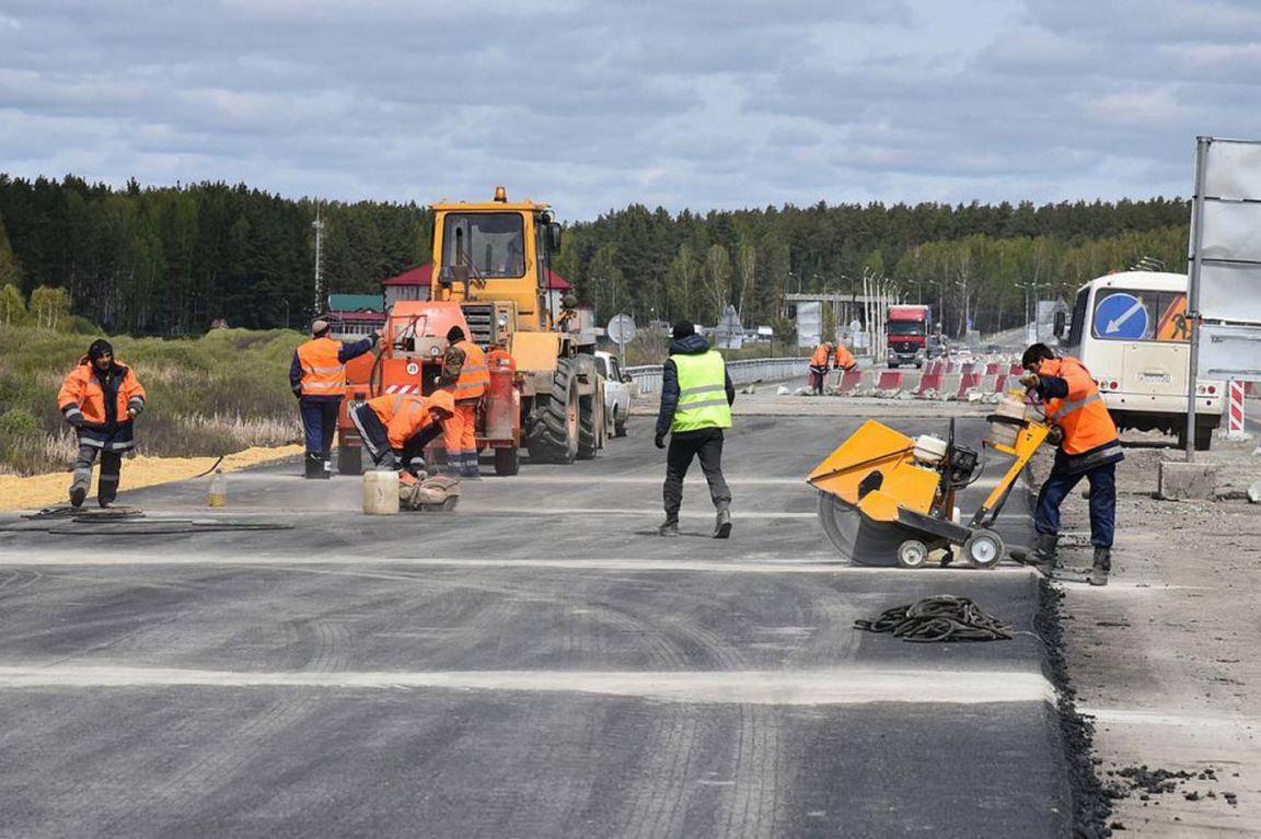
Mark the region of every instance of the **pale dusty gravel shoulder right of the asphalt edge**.
[[[1216, 440], [1197, 452], [1218, 469], [1218, 500], [1163, 501], [1154, 498], [1160, 461], [1184, 460], [1164, 440], [1126, 436], [1110, 585], [1062, 583], [1077, 709], [1095, 722], [1116, 828], [1261, 835], [1261, 506], [1245, 496], [1261, 479], [1258, 441]], [[1039, 456], [1034, 476], [1049, 464]], [[1064, 563], [1087, 567], [1081, 493], [1063, 514]]]

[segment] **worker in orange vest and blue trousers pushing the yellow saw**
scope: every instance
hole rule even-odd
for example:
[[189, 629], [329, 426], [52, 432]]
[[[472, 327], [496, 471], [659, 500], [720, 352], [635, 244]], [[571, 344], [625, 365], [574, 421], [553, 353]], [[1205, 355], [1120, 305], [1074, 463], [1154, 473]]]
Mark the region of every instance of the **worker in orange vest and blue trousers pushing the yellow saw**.
[[1116, 425], [1095, 378], [1076, 358], [1055, 358], [1045, 344], [1034, 344], [1020, 363], [1028, 370], [1021, 384], [1042, 397], [1047, 420], [1063, 435], [1050, 475], [1038, 493], [1034, 562], [1047, 571], [1054, 567], [1059, 505], [1084, 476], [1091, 485], [1091, 544], [1095, 545], [1090, 582], [1105, 586], [1112, 571], [1116, 465], [1125, 459]]

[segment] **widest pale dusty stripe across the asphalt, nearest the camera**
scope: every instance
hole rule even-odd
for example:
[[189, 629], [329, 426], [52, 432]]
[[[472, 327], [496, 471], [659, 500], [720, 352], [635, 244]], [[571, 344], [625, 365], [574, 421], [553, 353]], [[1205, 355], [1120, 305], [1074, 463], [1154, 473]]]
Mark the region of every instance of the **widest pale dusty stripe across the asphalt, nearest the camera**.
[[725, 673], [564, 670], [257, 673], [81, 664], [0, 666], [0, 689], [166, 687], [572, 692], [668, 702], [770, 705], [876, 702], [1049, 703], [1055, 699], [1054, 687], [1040, 673], [999, 670], [881, 670], [854, 666]]

